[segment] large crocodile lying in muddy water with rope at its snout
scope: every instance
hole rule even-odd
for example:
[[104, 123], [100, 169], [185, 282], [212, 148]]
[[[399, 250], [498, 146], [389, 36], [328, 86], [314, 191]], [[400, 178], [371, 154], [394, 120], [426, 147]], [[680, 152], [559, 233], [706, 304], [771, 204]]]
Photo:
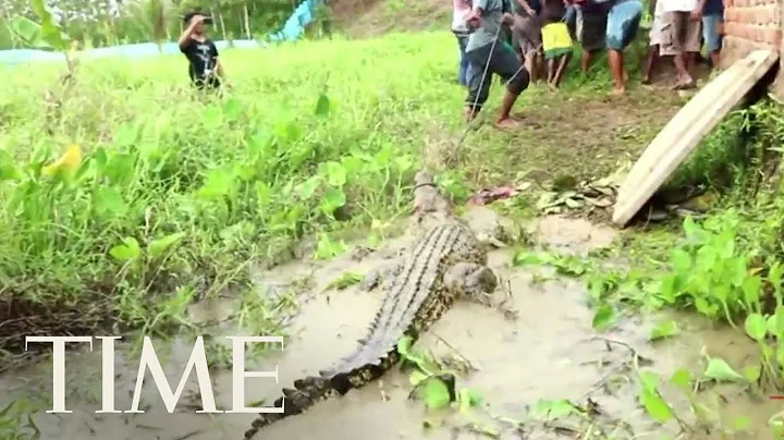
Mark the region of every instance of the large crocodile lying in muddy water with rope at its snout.
[[[365, 338], [354, 352], [319, 376], [294, 381], [274, 402], [282, 413], [259, 414], [245, 440], [283, 418], [302, 414], [319, 401], [344, 395], [378, 378], [400, 360], [397, 343], [414, 340], [436, 322], [461, 296], [485, 303], [498, 286], [487, 267], [487, 249], [458, 218], [425, 172], [417, 174], [414, 199], [420, 215], [439, 215], [438, 222], [418, 236], [407, 255], [384, 277], [383, 300]], [[420, 216], [421, 217], [421, 216]], [[417, 219], [417, 224], [421, 218]]]

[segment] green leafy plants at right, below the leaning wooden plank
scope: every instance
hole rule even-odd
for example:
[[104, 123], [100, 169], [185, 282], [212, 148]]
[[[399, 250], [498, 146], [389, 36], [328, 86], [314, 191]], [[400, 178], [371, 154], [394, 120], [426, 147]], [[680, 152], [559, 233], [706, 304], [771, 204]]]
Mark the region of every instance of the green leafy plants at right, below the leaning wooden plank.
[[[749, 428], [762, 432], [760, 426], [752, 426], [750, 416], [757, 414], [726, 417], [722, 404], [709, 403], [716, 383], [732, 383], [744, 399], [759, 403], [784, 390], [783, 117], [779, 103], [763, 99], [732, 113], [714, 130], [669, 186], [702, 185], [718, 197], [703, 217], [688, 216], [670, 228], [637, 228], [635, 235], [610, 250], [611, 257], [629, 266], [609, 269], [600, 260], [527, 250], [515, 257], [518, 265], [554, 265], [560, 273], [584, 278], [599, 332], [629, 314], [684, 310], [718, 327], [730, 326], [759, 346], [758, 356], [743, 364], [703, 353], [702, 369], [683, 365], [672, 377], [635, 367], [640, 405], [652, 419], [677, 423], [684, 432], [699, 429], [720, 437]], [[677, 319], [664, 319], [652, 328], [650, 340], [678, 337], [681, 327]], [[681, 392], [689, 414], [664, 398], [665, 388]], [[687, 418], [695, 424], [685, 423]], [[771, 412], [767, 421], [774, 436], [784, 431], [781, 414]]]

